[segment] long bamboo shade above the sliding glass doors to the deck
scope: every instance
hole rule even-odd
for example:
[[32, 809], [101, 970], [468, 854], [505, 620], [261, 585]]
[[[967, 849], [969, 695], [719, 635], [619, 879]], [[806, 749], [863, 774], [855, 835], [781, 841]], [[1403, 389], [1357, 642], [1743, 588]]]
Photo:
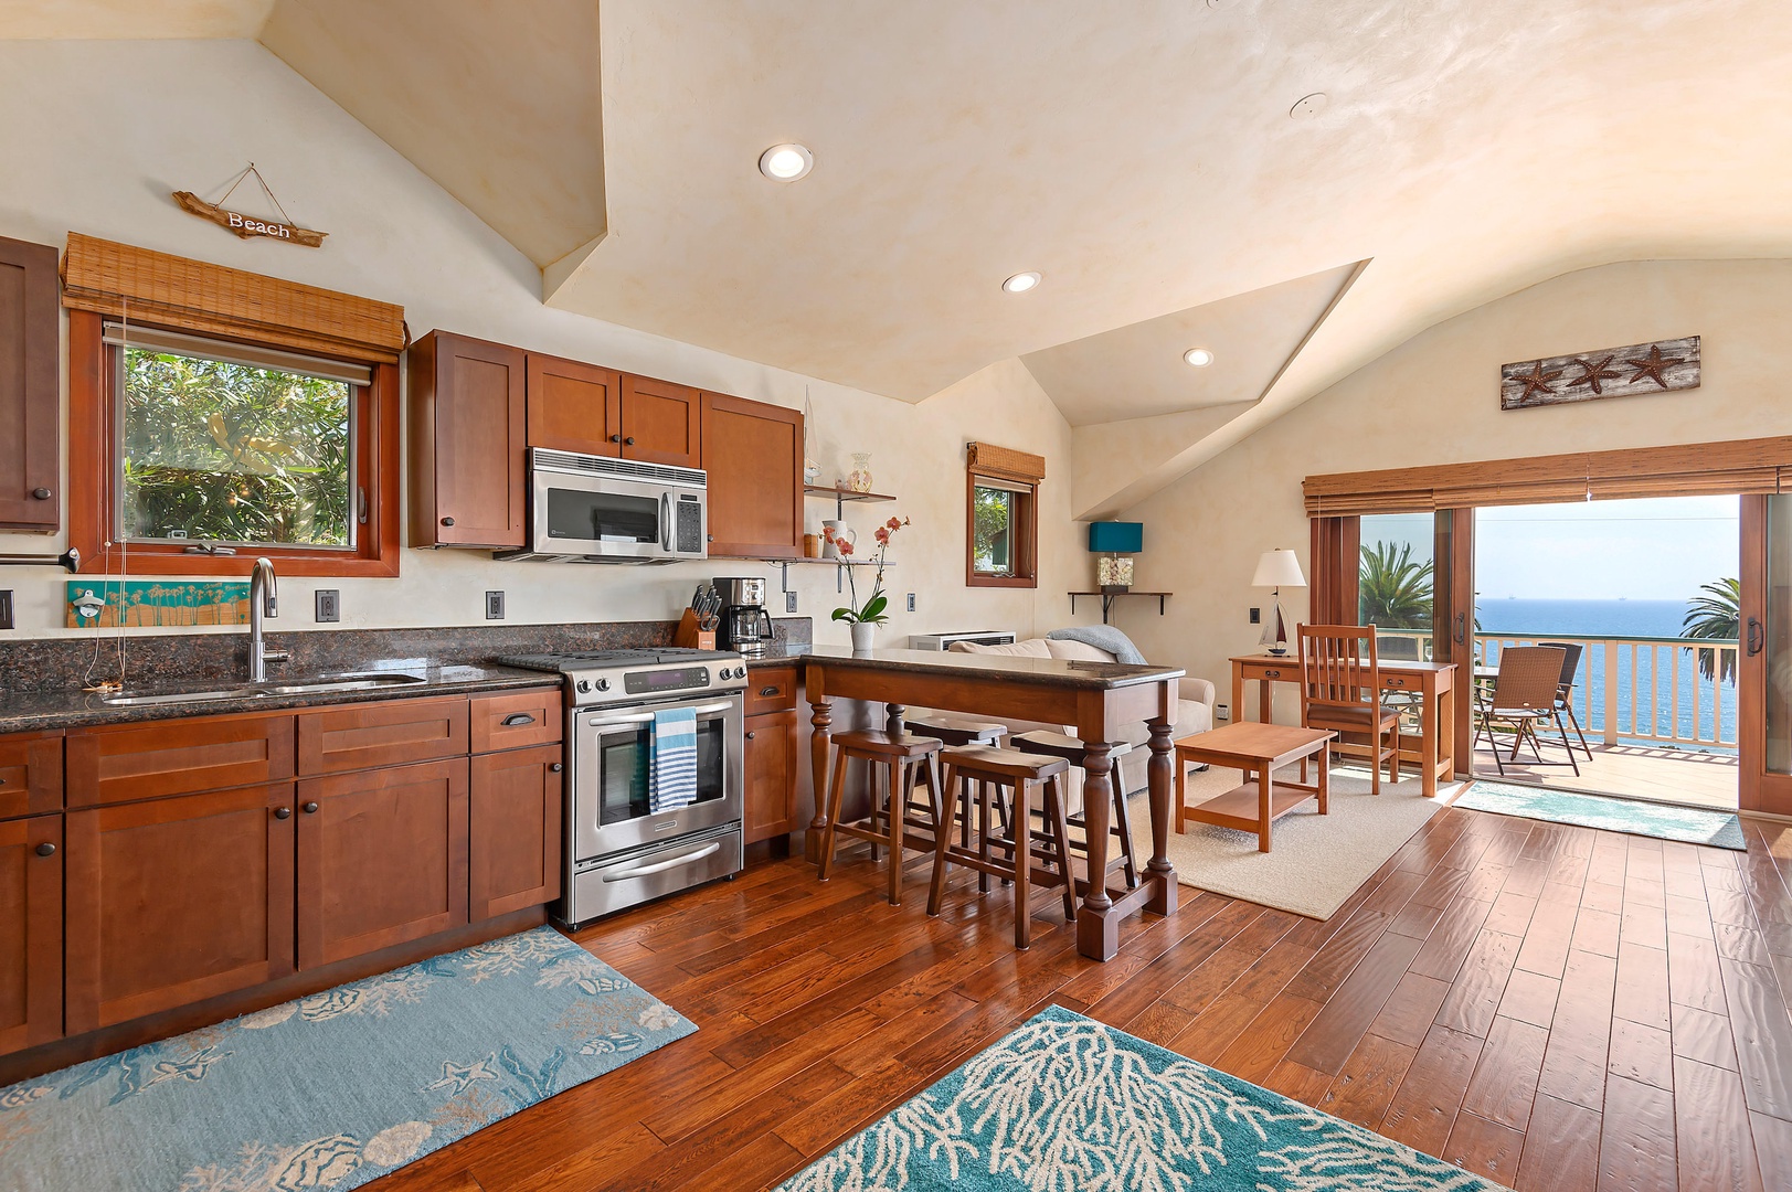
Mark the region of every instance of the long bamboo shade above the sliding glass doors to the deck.
[[1792, 493], [1792, 437], [1306, 477], [1306, 514], [1349, 518], [1631, 497]]

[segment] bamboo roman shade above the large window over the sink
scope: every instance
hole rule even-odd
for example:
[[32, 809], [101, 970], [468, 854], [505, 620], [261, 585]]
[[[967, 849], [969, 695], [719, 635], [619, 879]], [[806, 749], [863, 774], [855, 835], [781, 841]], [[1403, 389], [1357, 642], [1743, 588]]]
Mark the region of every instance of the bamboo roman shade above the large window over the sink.
[[63, 305], [367, 364], [405, 348], [405, 308], [68, 233]]

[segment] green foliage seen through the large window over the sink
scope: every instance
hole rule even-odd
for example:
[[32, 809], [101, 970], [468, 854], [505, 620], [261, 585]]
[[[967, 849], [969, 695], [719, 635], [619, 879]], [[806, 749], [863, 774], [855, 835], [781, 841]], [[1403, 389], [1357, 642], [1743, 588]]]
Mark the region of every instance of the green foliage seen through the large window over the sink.
[[349, 547], [349, 385], [124, 350], [124, 532]]

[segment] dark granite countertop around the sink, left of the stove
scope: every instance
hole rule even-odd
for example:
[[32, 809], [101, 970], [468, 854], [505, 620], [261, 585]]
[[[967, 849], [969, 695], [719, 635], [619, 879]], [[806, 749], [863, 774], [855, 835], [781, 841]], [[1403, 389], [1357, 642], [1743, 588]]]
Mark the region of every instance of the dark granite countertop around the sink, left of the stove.
[[[419, 695], [466, 695], [525, 687], [559, 687], [557, 674], [516, 670], [491, 663], [450, 663], [428, 658], [398, 658], [357, 667], [355, 674], [401, 672], [421, 678], [421, 683], [376, 687], [364, 690], [303, 692], [290, 695], [244, 695], [238, 699], [170, 701], [156, 704], [108, 704], [106, 695], [81, 690], [5, 692], [0, 694], [0, 733], [30, 733], [52, 728], [88, 728], [97, 724], [133, 724], [142, 721], [170, 721], [195, 715], [228, 715], [238, 712], [278, 712], [317, 708], [328, 704], [371, 703], [383, 699], [416, 699]], [[330, 676], [276, 674], [267, 685], [315, 681]], [[176, 687], [133, 687], [127, 694], [163, 694], [249, 687], [246, 679], [188, 683]]]

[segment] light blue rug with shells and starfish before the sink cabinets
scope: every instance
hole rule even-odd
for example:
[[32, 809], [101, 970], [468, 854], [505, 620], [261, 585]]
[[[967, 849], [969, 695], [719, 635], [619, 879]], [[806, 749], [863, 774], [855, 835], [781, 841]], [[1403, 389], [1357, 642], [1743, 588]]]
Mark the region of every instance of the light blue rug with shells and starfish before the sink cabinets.
[[0, 1188], [355, 1188], [695, 1029], [539, 927], [4, 1088]]

